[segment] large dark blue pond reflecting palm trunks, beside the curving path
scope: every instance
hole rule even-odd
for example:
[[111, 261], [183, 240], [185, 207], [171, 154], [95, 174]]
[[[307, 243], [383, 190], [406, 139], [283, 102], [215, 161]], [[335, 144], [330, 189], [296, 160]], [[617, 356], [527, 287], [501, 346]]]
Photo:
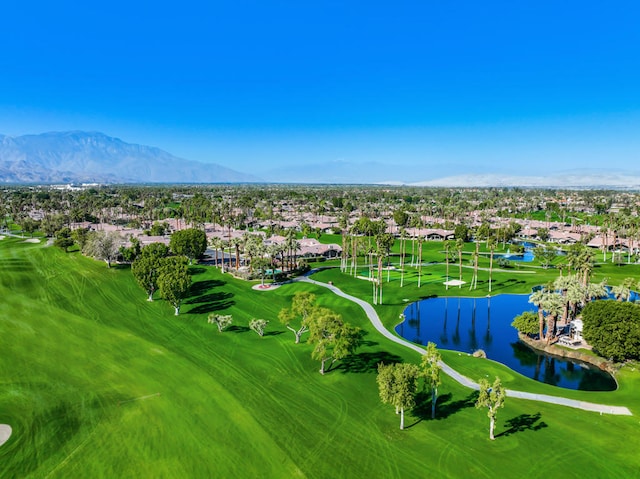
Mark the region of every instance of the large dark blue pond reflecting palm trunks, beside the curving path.
[[501, 294], [483, 298], [437, 297], [409, 305], [405, 320], [396, 326], [403, 338], [434, 342], [441, 349], [487, 357], [527, 377], [554, 386], [585, 391], [613, 391], [615, 380], [599, 368], [534, 351], [518, 339], [511, 326], [524, 311], [536, 311], [526, 294]]

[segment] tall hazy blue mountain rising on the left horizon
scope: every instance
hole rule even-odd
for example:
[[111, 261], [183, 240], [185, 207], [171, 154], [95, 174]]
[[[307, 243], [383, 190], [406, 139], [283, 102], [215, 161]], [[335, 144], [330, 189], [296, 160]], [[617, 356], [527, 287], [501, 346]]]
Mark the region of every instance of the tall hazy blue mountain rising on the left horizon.
[[0, 183], [236, 183], [258, 178], [97, 132], [0, 135]]

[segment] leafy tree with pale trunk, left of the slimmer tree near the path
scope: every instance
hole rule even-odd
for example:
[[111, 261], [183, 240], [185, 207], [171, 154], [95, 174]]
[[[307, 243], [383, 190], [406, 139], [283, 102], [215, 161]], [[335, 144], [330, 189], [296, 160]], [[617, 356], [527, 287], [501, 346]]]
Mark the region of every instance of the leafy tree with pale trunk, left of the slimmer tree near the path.
[[418, 392], [418, 377], [420, 370], [415, 364], [379, 364], [378, 391], [380, 399], [385, 404], [391, 404], [400, 414], [400, 429], [404, 429], [404, 411], [416, 404]]

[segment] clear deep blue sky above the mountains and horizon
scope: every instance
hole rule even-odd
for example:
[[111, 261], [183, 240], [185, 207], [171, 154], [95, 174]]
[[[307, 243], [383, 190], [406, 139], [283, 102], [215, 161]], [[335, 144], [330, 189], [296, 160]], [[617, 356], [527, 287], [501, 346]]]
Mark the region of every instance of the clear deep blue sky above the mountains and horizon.
[[101, 131], [287, 179], [640, 170], [637, 1], [21, 0], [0, 18], [2, 134]]

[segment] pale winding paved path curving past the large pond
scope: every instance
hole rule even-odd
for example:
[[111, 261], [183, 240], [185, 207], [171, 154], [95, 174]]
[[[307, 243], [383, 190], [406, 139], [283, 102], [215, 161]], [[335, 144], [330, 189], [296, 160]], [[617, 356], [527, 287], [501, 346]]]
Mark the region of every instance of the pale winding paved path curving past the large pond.
[[[314, 271], [309, 272], [308, 275], [312, 273], [314, 273]], [[320, 281], [313, 280], [309, 278], [308, 275], [296, 278], [294, 281], [305, 281], [307, 283], [313, 283], [318, 286], [323, 286], [325, 288], [330, 289], [338, 296], [348, 299], [349, 301], [353, 301], [354, 303], [358, 304], [362, 309], [364, 309], [364, 312], [369, 318], [369, 321], [371, 321], [371, 324], [373, 324], [373, 326], [378, 330], [378, 332], [382, 334], [385, 338], [393, 341], [394, 343], [398, 343], [404, 347], [407, 347], [409, 349], [413, 349], [420, 355], [425, 353], [425, 349], [420, 347], [419, 345], [406, 341], [405, 339], [402, 339], [401, 337], [396, 336], [390, 331], [388, 331], [387, 328], [385, 328], [384, 325], [382, 324], [382, 321], [380, 321], [380, 317], [378, 316], [378, 313], [376, 313], [376, 310], [373, 309], [373, 306], [371, 306], [369, 303], [359, 298], [356, 298], [355, 296], [351, 296], [343, 292], [341, 289], [333, 286], [332, 284], [322, 283]], [[477, 383], [475, 383], [468, 377], [463, 376], [458, 371], [453, 369], [451, 366], [448, 366], [442, 361], [440, 361], [440, 366], [442, 367], [442, 371], [445, 374], [447, 374], [448, 376], [450, 376], [451, 378], [453, 378], [463, 386], [466, 386], [471, 389], [476, 389], [476, 390], [480, 389]], [[528, 399], [531, 401], [541, 401], [541, 402], [547, 402], [551, 404], [560, 404], [562, 406], [583, 409], [585, 411], [599, 412], [600, 414], [617, 414], [617, 415], [623, 415], [623, 416], [632, 415], [631, 411], [628, 408], [623, 406], [607, 406], [604, 404], [595, 404], [595, 403], [590, 403], [585, 401], [577, 401], [575, 399], [549, 396], [546, 394], [533, 394], [533, 393], [528, 393], [524, 391], [514, 391], [511, 389], [507, 389], [507, 396], [515, 397], [519, 399]]]

